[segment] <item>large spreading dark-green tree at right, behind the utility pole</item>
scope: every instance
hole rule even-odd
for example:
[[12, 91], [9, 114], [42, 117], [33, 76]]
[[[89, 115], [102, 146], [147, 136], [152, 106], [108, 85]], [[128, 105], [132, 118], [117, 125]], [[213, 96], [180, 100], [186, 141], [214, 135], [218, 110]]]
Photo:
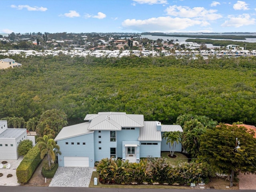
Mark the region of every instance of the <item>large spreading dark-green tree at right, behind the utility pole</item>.
[[[220, 124], [207, 129], [201, 136], [201, 157], [216, 167], [220, 173], [231, 170], [256, 173], [256, 138], [254, 132], [244, 127]], [[236, 138], [240, 148], [236, 150]]]

